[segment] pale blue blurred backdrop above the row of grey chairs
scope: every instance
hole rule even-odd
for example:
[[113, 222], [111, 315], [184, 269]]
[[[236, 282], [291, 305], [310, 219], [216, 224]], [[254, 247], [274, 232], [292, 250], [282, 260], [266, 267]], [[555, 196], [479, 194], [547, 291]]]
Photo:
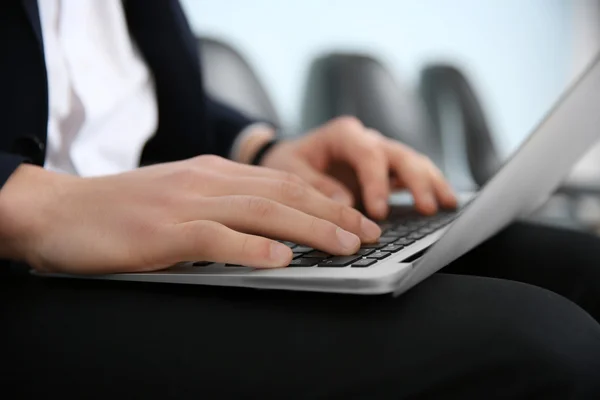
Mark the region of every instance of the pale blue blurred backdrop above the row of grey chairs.
[[428, 61], [468, 72], [508, 154], [568, 83], [568, 0], [184, 0], [198, 34], [226, 39], [258, 70], [288, 128], [310, 61], [368, 51], [414, 85]]

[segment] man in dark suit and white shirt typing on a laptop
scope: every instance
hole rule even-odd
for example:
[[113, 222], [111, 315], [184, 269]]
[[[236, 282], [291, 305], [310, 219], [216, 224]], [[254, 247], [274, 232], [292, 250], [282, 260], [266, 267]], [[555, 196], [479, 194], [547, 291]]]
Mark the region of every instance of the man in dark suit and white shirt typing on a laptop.
[[[292, 254], [274, 239], [333, 254], [376, 240], [371, 219], [385, 217], [392, 189], [408, 188], [424, 213], [455, 204], [427, 158], [352, 118], [273, 142], [274, 127], [208, 99], [175, 0], [9, 1], [0, 46], [7, 260], [80, 274], [192, 259], [284, 267]], [[359, 201], [366, 216], [351, 207]], [[9, 272], [2, 387], [595, 398], [600, 326], [559, 294], [597, 319], [598, 260], [596, 238], [522, 225], [399, 299]]]

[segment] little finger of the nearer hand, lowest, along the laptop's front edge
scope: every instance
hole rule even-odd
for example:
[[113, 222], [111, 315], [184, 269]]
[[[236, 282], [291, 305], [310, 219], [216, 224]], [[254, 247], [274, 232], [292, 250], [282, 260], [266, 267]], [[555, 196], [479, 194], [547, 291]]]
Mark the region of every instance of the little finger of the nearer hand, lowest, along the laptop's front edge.
[[212, 261], [257, 268], [284, 267], [291, 249], [275, 240], [236, 232], [214, 221], [174, 225], [164, 235], [162, 251], [171, 264]]

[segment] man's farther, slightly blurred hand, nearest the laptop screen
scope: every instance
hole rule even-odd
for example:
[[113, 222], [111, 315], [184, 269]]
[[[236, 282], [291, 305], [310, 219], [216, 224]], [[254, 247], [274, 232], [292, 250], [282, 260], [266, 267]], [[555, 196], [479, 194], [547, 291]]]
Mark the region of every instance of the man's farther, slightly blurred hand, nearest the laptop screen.
[[292, 172], [328, 197], [348, 205], [361, 200], [369, 216], [385, 218], [391, 190], [408, 189], [419, 211], [453, 208], [456, 198], [424, 155], [340, 117], [299, 139], [284, 141], [262, 165]]

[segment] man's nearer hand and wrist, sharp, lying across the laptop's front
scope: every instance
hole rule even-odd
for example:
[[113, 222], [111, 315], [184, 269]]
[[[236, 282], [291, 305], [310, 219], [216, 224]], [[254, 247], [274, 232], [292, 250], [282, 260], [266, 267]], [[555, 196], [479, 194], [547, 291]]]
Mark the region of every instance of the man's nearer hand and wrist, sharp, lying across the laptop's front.
[[282, 267], [292, 251], [276, 240], [346, 255], [380, 234], [295, 175], [217, 156], [99, 178], [21, 165], [0, 190], [0, 257], [41, 271], [150, 271], [193, 260]]

